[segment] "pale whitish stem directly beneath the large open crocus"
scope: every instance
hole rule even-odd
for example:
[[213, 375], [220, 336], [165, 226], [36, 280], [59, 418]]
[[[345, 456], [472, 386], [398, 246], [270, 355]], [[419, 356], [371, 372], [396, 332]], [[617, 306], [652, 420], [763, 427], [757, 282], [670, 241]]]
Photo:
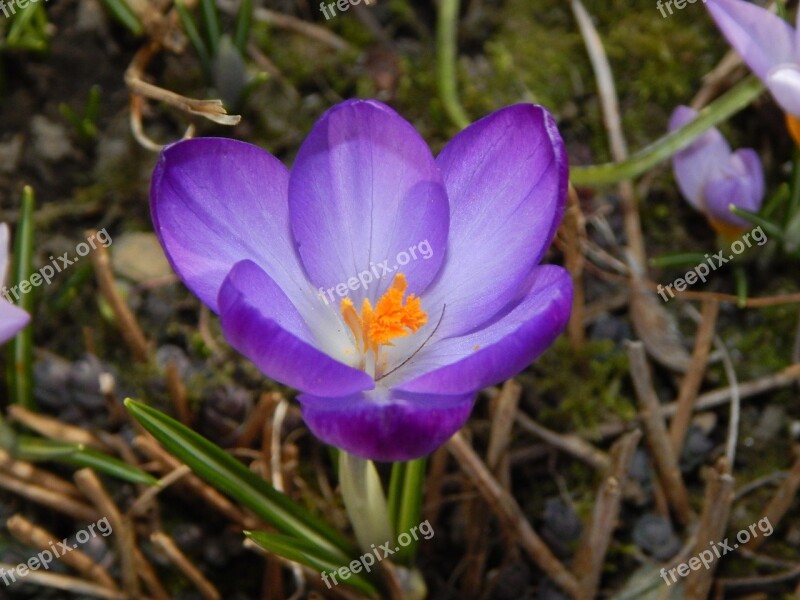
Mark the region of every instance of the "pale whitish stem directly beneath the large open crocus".
[[372, 461], [341, 450], [339, 483], [361, 549], [369, 552], [373, 544], [377, 547], [386, 542], [394, 543], [386, 496]]

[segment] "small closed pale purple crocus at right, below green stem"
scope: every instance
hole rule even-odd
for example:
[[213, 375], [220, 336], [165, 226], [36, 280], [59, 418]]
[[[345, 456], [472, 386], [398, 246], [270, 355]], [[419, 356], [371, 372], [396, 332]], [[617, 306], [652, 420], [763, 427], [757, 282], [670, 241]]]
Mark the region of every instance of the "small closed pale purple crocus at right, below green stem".
[[[669, 120], [674, 131], [697, 117], [687, 106], [676, 108]], [[730, 211], [730, 205], [758, 212], [764, 200], [764, 172], [750, 148], [731, 152], [718, 129], [712, 128], [672, 157], [675, 179], [683, 197], [706, 214], [711, 225], [728, 237], [738, 236], [749, 223]]]

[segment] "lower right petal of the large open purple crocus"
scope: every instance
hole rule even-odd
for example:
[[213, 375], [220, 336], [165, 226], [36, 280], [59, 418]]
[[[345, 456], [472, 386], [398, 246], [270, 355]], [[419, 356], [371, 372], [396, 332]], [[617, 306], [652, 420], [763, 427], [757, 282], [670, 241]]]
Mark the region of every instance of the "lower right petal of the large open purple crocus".
[[567, 271], [555, 265], [537, 267], [506, 314], [480, 331], [441, 340], [420, 352], [407, 369], [398, 370], [406, 382], [397, 389], [460, 394], [508, 379], [553, 343], [566, 327], [571, 306]]

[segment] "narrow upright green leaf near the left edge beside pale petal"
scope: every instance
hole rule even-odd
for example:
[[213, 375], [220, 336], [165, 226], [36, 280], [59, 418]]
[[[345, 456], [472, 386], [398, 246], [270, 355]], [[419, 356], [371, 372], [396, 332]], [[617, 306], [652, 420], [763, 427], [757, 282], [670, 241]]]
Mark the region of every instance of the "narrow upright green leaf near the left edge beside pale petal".
[[[14, 284], [27, 282], [33, 274], [33, 188], [26, 185], [22, 191], [22, 209], [14, 240]], [[33, 314], [33, 294], [20, 291], [16, 304], [28, 314]], [[20, 331], [9, 343], [8, 382], [11, 402], [36, 410], [33, 399], [33, 325]]]

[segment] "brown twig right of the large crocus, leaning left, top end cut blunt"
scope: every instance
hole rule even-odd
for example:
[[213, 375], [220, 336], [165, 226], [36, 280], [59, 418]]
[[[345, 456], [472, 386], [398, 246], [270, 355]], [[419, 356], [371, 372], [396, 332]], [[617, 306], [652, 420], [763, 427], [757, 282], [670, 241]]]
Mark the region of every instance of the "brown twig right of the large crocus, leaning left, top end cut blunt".
[[667, 427], [660, 414], [660, 403], [653, 389], [650, 368], [641, 342], [628, 343], [628, 357], [631, 364], [631, 378], [639, 401], [639, 418], [650, 447], [650, 455], [661, 480], [664, 492], [670, 505], [675, 510], [678, 520], [689, 525], [694, 519], [689, 494], [683, 483], [678, 461], [672, 442], [667, 434]]

